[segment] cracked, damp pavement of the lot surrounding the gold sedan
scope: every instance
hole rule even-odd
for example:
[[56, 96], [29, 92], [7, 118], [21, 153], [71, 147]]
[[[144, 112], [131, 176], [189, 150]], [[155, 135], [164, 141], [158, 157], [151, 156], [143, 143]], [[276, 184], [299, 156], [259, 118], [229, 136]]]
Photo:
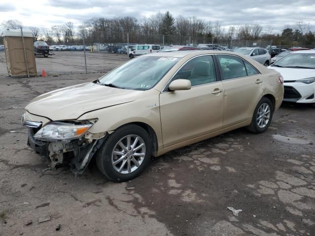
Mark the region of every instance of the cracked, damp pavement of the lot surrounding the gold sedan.
[[315, 235], [311, 106], [284, 104], [263, 134], [242, 128], [172, 151], [125, 183], [107, 181], [94, 162], [78, 177], [48, 170], [26, 145], [24, 106], [99, 76], [0, 76], [0, 235]]

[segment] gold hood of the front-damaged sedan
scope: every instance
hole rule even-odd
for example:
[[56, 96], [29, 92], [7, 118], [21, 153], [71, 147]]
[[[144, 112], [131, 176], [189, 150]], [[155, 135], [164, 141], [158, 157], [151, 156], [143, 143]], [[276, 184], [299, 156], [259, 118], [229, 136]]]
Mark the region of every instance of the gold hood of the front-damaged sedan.
[[51, 120], [76, 119], [90, 111], [134, 101], [141, 93], [143, 91], [89, 82], [44, 93], [34, 98], [25, 109]]

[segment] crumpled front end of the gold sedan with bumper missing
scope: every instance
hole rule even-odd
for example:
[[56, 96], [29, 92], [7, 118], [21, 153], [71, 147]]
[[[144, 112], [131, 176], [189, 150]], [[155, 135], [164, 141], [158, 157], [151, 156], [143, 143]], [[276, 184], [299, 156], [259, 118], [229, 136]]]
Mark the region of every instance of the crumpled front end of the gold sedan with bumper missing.
[[[35, 116], [26, 112], [23, 114], [21, 121], [24, 126], [28, 127], [27, 144], [29, 147], [41, 156], [46, 157], [51, 162], [51, 168], [70, 165], [71, 171], [75, 174], [82, 174], [84, 172], [96, 150], [101, 147], [108, 136], [106, 132], [92, 134], [86, 131], [79, 137], [65, 137], [63, 139], [58, 137], [58, 135], [63, 135], [64, 137], [70, 133], [68, 130], [63, 131], [64, 133], [54, 133], [62, 125], [70, 127], [70, 131], [74, 132], [73, 130], [78, 130], [77, 127], [82, 127], [87, 123], [91, 123], [90, 126], [92, 126], [93, 122], [97, 122], [97, 119], [84, 122], [75, 120], [54, 122], [48, 118]], [[53, 131], [45, 131], [49, 126], [52, 126]], [[47, 133], [50, 135], [49, 137]], [[57, 138], [52, 138], [53, 135]]]

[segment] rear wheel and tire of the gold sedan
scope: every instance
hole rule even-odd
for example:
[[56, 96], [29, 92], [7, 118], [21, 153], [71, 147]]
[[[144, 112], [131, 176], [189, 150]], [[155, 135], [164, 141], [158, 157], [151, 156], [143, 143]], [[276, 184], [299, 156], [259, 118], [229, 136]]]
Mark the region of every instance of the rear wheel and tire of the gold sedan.
[[273, 116], [273, 105], [269, 98], [262, 97], [258, 102], [254, 114], [252, 115], [252, 123], [247, 129], [253, 133], [262, 133], [268, 129]]

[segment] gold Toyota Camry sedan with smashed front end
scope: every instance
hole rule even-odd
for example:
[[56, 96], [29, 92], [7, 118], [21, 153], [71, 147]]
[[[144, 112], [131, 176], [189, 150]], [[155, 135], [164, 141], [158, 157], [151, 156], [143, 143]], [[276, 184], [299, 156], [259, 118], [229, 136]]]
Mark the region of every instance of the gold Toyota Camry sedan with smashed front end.
[[151, 156], [243, 126], [264, 132], [283, 95], [282, 76], [243, 55], [155, 53], [34, 98], [22, 124], [52, 168], [81, 174], [94, 157], [106, 177], [126, 181]]

